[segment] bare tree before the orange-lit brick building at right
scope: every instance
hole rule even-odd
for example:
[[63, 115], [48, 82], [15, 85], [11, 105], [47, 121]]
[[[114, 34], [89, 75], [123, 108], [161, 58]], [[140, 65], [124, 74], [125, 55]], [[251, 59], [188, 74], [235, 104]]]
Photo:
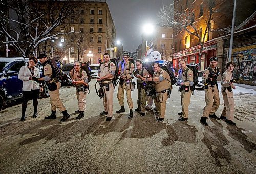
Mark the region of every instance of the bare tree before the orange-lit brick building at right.
[[[207, 40], [206, 35], [208, 34], [209, 36], [210, 32], [215, 31], [215, 30], [212, 30], [210, 26], [212, 21], [212, 16], [214, 15], [214, 13], [220, 12], [220, 9], [215, 8], [216, 6], [215, 0], [204, 0], [204, 3], [202, 3], [202, 5], [197, 8], [200, 8], [200, 12], [201, 10], [207, 9], [207, 13], [204, 13], [201, 19], [199, 18], [196, 20], [195, 13], [194, 13], [195, 3], [191, 3], [190, 5], [187, 5], [185, 7], [181, 5], [181, 7], [174, 8], [175, 3], [177, 2], [173, 2], [169, 6], [164, 6], [160, 10], [158, 16], [161, 21], [161, 25], [172, 27], [178, 31], [184, 30], [188, 34], [198, 38], [198, 43], [200, 45], [199, 62], [201, 63], [203, 45], [205, 40]], [[206, 26], [204, 31], [199, 30], [199, 27], [202, 25], [202, 21]]]

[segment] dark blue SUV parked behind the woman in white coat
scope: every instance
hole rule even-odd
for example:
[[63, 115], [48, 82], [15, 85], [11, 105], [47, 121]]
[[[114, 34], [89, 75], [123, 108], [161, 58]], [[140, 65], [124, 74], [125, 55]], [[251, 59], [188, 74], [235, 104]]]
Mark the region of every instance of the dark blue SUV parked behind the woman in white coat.
[[[22, 57], [0, 57], [0, 111], [8, 102], [22, 98], [22, 80], [18, 79], [18, 72], [27, 62], [28, 59]], [[40, 63], [38, 68], [42, 75]], [[42, 96], [49, 97], [49, 90], [43, 85]]]

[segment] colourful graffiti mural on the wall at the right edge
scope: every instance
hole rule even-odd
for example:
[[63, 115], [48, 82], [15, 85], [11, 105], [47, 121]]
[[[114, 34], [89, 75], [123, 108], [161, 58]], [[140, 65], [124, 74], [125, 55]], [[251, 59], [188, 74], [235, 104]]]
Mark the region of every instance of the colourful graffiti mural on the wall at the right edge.
[[232, 60], [237, 65], [234, 69], [234, 79], [256, 84], [256, 45], [236, 48], [232, 52]]

